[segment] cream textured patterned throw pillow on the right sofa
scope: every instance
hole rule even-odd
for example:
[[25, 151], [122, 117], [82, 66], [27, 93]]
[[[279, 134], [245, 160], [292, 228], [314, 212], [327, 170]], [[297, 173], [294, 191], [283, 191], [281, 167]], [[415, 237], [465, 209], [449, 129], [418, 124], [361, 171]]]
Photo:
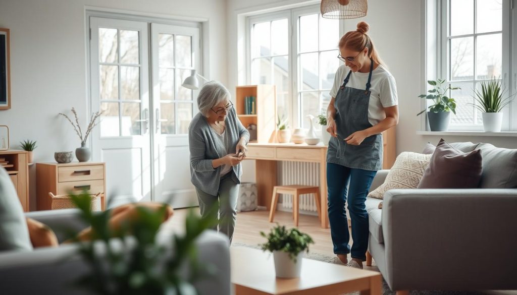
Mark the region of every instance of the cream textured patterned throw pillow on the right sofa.
[[383, 199], [384, 193], [392, 189], [416, 189], [432, 154], [405, 151], [399, 154], [386, 180], [369, 197]]

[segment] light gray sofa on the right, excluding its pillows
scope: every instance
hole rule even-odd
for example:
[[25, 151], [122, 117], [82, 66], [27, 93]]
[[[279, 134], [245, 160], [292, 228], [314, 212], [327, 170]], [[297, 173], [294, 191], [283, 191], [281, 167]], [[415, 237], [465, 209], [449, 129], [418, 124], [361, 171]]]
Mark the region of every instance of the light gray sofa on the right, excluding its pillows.
[[[384, 182], [377, 173], [371, 190]], [[517, 189], [405, 189], [367, 198], [371, 258], [397, 294], [517, 289]]]

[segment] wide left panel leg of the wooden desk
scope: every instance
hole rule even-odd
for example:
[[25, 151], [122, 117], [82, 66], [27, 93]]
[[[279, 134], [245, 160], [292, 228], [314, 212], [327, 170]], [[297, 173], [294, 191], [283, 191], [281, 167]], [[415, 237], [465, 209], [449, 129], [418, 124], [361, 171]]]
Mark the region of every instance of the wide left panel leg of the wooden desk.
[[269, 210], [273, 187], [277, 185], [277, 161], [256, 160], [255, 177], [258, 206], [265, 206]]

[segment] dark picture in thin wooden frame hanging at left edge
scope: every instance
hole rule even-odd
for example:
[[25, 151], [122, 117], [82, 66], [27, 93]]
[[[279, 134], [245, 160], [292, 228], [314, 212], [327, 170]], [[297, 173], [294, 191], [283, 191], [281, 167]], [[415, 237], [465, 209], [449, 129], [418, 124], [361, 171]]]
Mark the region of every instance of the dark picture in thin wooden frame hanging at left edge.
[[9, 29], [0, 28], [0, 110], [11, 108], [10, 71]]

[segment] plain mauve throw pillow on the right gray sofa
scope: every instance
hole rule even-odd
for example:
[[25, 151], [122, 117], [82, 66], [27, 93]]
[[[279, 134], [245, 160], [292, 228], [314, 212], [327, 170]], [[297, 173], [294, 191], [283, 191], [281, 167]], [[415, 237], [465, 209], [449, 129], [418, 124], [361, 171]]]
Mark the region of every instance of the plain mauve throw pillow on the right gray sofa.
[[477, 188], [482, 172], [480, 150], [461, 152], [440, 139], [418, 189]]

